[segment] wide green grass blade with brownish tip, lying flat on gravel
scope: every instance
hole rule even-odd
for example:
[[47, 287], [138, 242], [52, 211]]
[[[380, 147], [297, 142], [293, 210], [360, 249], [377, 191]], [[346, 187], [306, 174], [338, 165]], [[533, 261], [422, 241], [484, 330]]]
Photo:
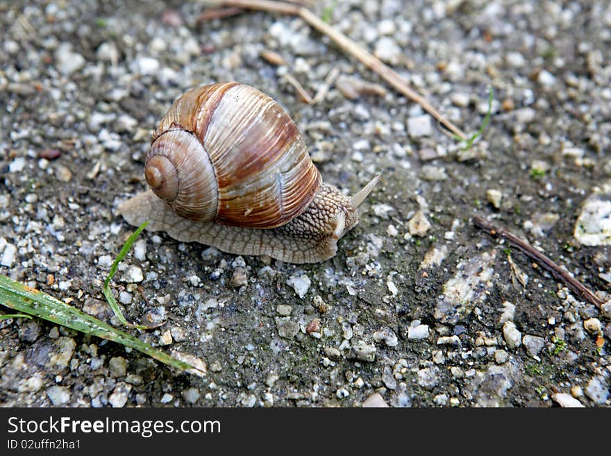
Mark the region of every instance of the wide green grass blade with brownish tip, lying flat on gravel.
[[0, 274], [0, 304], [24, 314], [37, 316], [41, 319], [57, 323], [67, 328], [84, 332], [85, 334], [108, 339], [126, 347], [133, 348], [153, 357], [154, 359], [177, 369], [190, 370], [194, 373], [203, 373], [191, 364], [176, 360], [176, 358], [153, 348], [146, 342], [113, 328], [108, 323], [89, 315], [81, 310], [62, 303], [49, 294], [30, 288], [22, 283], [15, 282]]

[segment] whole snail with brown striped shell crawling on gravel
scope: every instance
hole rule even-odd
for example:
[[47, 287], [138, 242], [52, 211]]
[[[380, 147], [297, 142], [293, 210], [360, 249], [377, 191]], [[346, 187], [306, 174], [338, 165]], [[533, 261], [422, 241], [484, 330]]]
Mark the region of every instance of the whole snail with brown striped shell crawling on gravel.
[[238, 255], [321, 262], [358, 222], [353, 196], [322, 182], [296, 125], [276, 101], [241, 83], [204, 85], [171, 105], [153, 133], [151, 187], [119, 206], [133, 226]]

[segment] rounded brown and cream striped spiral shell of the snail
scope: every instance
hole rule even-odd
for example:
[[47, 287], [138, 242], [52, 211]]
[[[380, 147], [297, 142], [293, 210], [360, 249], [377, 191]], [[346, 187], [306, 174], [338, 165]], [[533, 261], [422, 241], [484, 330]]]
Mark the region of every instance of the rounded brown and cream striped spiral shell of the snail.
[[153, 133], [144, 174], [183, 217], [247, 228], [291, 221], [322, 183], [289, 115], [240, 83], [178, 98]]

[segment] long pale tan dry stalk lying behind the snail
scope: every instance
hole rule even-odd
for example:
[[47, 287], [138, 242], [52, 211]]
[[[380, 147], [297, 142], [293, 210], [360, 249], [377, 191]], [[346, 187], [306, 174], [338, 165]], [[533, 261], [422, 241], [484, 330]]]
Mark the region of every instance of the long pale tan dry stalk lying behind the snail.
[[433, 105], [428, 103], [424, 96], [421, 96], [418, 92], [412, 89], [407, 81], [394, 69], [385, 65], [381, 60], [374, 57], [369, 51], [364, 49], [359, 44], [353, 42], [349, 37], [343, 33], [335, 30], [332, 26], [324, 22], [320, 17], [315, 15], [313, 12], [303, 6], [295, 5], [294, 3], [287, 3], [285, 1], [273, 1], [273, 0], [214, 0], [209, 1], [215, 6], [221, 7], [233, 7], [233, 8], [244, 8], [246, 10], [260, 10], [267, 12], [280, 12], [281, 14], [299, 16], [310, 26], [315, 28], [320, 33], [327, 35], [331, 40], [346, 53], [359, 60], [367, 68], [375, 71], [380, 75], [387, 83], [389, 83], [394, 89], [407, 96], [408, 99], [421, 105], [421, 107], [433, 116], [440, 124], [446, 126], [452, 133], [460, 137], [461, 140], [466, 141], [467, 135], [465, 135], [460, 128], [455, 126], [449, 119], [446, 119], [439, 111], [437, 111]]

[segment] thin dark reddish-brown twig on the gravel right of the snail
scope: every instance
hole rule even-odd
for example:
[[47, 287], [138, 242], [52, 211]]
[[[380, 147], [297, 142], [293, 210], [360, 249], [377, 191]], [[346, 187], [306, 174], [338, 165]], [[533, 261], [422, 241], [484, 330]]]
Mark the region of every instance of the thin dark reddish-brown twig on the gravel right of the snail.
[[499, 228], [498, 226], [494, 226], [492, 223], [484, 219], [483, 217], [474, 217], [473, 223], [476, 227], [487, 231], [489, 235], [499, 236], [503, 239], [506, 239], [512, 246], [518, 248], [522, 253], [525, 253], [537, 263], [541, 264], [544, 269], [551, 272], [552, 275], [558, 279], [562, 280], [567, 287], [572, 289], [576, 294], [584, 298], [589, 303], [596, 305], [596, 307], [601, 307], [603, 305], [603, 300], [596, 296], [592, 290], [587, 288], [583, 283], [579, 282], [576, 278], [571, 276], [567, 271], [564, 271], [557, 263], [553, 262], [548, 256], [539, 252], [536, 248], [528, 244], [526, 240], [517, 237], [513, 233], [504, 228]]

